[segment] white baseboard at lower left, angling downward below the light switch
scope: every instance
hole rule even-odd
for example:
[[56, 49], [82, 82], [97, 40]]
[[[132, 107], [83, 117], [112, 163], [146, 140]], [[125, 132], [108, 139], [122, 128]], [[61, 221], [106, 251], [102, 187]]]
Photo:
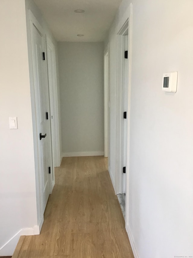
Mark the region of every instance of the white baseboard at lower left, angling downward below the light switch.
[[0, 256], [12, 256], [14, 250], [17, 246], [20, 236], [33, 236], [39, 235], [40, 230], [43, 224], [43, 220], [40, 221], [39, 226], [34, 226], [30, 228], [22, 228], [19, 230], [10, 240], [8, 240], [1, 248], [0, 248]]

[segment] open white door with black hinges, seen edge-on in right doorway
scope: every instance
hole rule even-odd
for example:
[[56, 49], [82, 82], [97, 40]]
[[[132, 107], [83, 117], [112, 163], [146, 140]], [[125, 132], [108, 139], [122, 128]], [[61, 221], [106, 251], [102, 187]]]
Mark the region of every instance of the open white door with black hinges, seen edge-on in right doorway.
[[[125, 51], [128, 51], [128, 35], [125, 38]], [[123, 167], [126, 167], [127, 161], [127, 135], [128, 135], [128, 59], [124, 59], [124, 97], [123, 110], [126, 112], [126, 119], [123, 120]], [[123, 173], [123, 193], [125, 194], [125, 173]]]

